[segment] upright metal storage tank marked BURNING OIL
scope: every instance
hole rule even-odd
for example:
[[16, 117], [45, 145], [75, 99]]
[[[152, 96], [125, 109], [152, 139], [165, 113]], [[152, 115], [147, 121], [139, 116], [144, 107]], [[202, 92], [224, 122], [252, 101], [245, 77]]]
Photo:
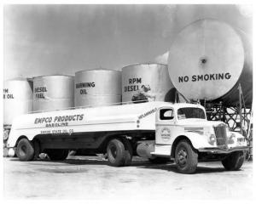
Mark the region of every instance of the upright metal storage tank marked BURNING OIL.
[[108, 69], [75, 74], [75, 106], [114, 105], [121, 102], [121, 73]]

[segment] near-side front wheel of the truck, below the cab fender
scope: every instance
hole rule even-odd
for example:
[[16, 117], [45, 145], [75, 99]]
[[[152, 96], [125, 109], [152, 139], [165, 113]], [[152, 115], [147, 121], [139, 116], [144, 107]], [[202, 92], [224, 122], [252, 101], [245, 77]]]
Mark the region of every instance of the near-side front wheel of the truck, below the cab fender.
[[181, 140], [175, 150], [175, 161], [180, 173], [195, 173], [198, 155], [188, 140]]

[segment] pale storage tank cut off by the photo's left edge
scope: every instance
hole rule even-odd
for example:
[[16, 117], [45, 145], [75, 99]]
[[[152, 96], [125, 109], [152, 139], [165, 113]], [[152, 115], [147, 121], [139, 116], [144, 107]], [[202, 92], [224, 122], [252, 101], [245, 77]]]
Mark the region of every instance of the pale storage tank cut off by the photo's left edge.
[[3, 125], [11, 125], [15, 116], [32, 111], [32, 82], [25, 78], [3, 83]]

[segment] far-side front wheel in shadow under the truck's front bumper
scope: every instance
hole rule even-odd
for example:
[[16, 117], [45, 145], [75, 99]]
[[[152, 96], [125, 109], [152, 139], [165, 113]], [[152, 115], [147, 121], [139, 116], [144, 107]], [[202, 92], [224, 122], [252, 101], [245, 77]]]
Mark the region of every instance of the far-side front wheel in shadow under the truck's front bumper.
[[228, 171], [237, 171], [241, 168], [244, 161], [244, 153], [242, 151], [235, 151], [224, 158], [222, 162], [224, 168]]

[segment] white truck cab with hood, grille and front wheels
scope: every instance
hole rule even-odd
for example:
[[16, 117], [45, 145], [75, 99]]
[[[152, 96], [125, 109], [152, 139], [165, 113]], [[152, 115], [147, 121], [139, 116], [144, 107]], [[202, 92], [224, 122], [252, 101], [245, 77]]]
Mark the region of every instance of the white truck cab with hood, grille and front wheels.
[[201, 105], [160, 107], [155, 115], [153, 156], [171, 156], [182, 173], [194, 173], [198, 161], [222, 161], [227, 170], [238, 170], [247, 150], [246, 139], [230, 132], [224, 122], [207, 121]]

